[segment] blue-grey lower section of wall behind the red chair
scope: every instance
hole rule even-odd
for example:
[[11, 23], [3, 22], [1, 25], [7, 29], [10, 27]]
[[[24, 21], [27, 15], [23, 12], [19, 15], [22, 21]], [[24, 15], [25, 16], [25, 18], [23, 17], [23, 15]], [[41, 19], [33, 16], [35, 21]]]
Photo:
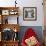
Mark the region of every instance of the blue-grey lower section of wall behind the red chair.
[[28, 28], [32, 28], [36, 32], [39, 41], [42, 43], [43, 42], [42, 26], [21, 26], [20, 27], [20, 32], [19, 32], [19, 40], [20, 40], [20, 42], [21, 42], [21, 40], [22, 40], [22, 38], [24, 36], [25, 31]]

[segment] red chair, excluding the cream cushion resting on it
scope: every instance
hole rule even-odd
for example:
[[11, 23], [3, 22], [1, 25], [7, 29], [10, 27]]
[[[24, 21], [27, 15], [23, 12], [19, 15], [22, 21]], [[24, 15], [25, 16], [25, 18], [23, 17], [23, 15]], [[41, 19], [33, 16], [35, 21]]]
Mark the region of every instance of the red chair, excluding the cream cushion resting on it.
[[[34, 36], [37, 39], [37, 35], [36, 33], [33, 31], [33, 29], [28, 28], [25, 32], [24, 37], [22, 38], [22, 42], [21, 42], [21, 46], [27, 46], [25, 43], [25, 40]], [[37, 40], [38, 41], [38, 40]], [[40, 42], [38, 41], [37, 44], [35, 46], [41, 46]]]

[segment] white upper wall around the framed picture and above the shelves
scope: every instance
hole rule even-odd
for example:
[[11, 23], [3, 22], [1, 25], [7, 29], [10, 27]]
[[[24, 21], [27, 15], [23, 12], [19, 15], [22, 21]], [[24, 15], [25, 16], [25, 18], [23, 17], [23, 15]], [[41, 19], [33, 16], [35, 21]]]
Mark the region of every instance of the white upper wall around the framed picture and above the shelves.
[[[15, 6], [15, 0], [0, 0], [0, 6]], [[17, 0], [19, 7], [19, 24], [20, 26], [43, 26], [43, 6], [42, 0]], [[23, 20], [23, 7], [37, 7], [37, 21], [24, 21]], [[10, 20], [10, 19], [9, 19]], [[14, 22], [14, 21], [13, 21]]]

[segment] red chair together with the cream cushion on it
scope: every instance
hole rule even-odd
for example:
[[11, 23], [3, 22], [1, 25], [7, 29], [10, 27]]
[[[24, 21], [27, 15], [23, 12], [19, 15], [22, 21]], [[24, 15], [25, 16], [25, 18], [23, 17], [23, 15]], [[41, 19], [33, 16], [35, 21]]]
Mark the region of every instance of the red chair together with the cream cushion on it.
[[39, 40], [37, 39], [36, 33], [31, 29], [27, 29], [21, 42], [22, 46], [41, 46]]

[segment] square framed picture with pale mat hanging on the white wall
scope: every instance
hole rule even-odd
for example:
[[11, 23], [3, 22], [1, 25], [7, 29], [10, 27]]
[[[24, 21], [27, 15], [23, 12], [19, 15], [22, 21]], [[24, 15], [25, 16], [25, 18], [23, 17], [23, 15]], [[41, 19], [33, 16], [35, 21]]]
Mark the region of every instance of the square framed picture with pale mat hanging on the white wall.
[[23, 20], [36, 21], [37, 20], [37, 8], [36, 7], [24, 7], [23, 8]]

